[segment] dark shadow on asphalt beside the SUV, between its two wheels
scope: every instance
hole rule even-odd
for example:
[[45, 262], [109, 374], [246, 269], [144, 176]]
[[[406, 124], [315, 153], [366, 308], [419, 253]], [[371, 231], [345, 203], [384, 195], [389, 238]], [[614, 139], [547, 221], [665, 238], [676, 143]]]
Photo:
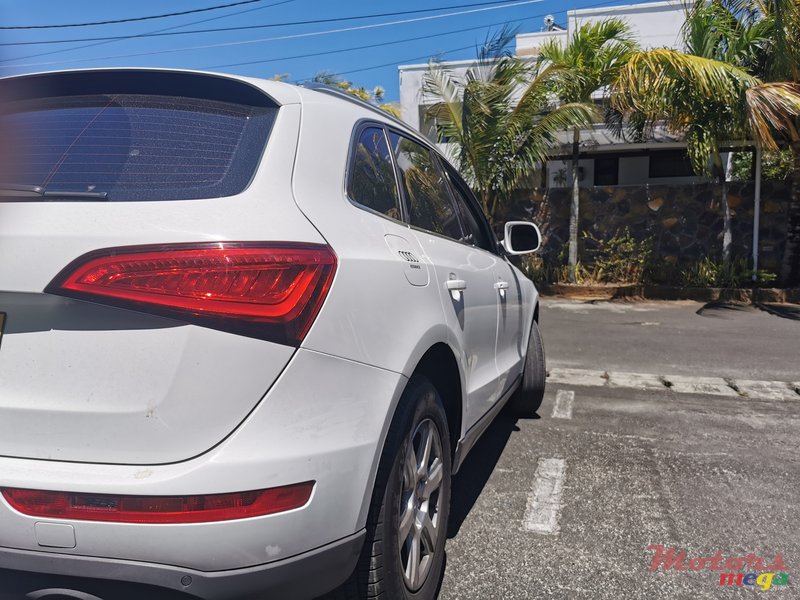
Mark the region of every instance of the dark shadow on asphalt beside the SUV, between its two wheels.
[[[539, 419], [540, 417], [534, 415], [532, 418]], [[458, 535], [461, 525], [497, 466], [497, 461], [500, 460], [511, 434], [519, 430], [517, 418], [504, 411], [489, 425], [489, 428], [467, 455], [458, 474], [453, 477], [450, 494], [450, 520], [447, 527], [448, 538]]]

